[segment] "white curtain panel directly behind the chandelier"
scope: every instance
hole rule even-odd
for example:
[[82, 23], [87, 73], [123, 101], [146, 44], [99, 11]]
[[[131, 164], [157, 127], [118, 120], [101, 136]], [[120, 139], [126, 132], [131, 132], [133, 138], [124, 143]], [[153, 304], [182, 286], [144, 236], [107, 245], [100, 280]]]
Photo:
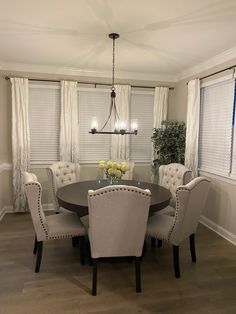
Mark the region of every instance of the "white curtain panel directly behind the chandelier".
[[[116, 85], [116, 108], [120, 120], [126, 121], [126, 126], [130, 122], [130, 95], [131, 87], [129, 85]], [[114, 125], [114, 123], [112, 124]], [[111, 136], [111, 159], [129, 160], [129, 136], [112, 135]]]

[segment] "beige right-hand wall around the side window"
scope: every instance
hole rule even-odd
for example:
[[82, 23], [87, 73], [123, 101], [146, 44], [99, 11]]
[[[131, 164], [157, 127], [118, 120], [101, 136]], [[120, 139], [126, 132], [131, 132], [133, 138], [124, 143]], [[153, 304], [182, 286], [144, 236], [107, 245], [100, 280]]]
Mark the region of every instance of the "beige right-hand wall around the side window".
[[[235, 64], [236, 59], [179, 81], [175, 87], [174, 101], [171, 102], [169, 106], [169, 119], [186, 121], [188, 96], [187, 82], [189, 80], [203, 77]], [[214, 78], [228, 73], [229, 71], [224, 72], [223, 74], [214, 76]], [[212, 77], [207, 80], [210, 79], [212, 79]], [[208, 174], [208, 176], [210, 175]], [[210, 176], [210, 179], [212, 180], [212, 184], [207, 206], [203, 213], [206, 218], [204, 221], [211, 228], [230, 238], [236, 244], [236, 182], [225, 182], [220, 177], [212, 176]]]

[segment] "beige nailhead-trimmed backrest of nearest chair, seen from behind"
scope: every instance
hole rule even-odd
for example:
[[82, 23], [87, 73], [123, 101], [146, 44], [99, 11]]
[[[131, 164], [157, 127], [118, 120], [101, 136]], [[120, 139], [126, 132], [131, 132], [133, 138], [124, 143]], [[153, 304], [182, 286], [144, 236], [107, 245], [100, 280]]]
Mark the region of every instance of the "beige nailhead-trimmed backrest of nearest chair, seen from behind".
[[141, 256], [151, 192], [111, 185], [88, 192], [89, 239], [93, 258]]

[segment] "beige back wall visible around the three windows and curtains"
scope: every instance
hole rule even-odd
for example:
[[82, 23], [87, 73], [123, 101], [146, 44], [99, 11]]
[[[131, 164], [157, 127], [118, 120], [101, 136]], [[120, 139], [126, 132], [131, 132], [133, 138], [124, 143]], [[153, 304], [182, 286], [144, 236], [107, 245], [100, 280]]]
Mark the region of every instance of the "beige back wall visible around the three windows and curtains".
[[[11, 89], [10, 81], [5, 80], [5, 75], [29, 77], [29, 78], [42, 78], [42, 79], [56, 79], [60, 80], [61, 77], [57, 75], [48, 74], [35, 74], [35, 73], [23, 73], [23, 72], [0, 72], [0, 212], [4, 207], [12, 205], [12, 171], [9, 166], [12, 163], [11, 155]], [[74, 79], [83, 82], [100, 82], [110, 83], [110, 79], [107, 78], [94, 78], [94, 77], [76, 77], [76, 76], [63, 76], [63, 79]], [[139, 80], [116, 80], [117, 83], [129, 83], [132, 85], [142, 86], [174, 86], [170, 82], [154, 82], [154, 81], [139, 81]], [[174, 91], [170, 91], [169, 103], [174, 101]], [[173, 107], [173, 105], [172, 105]], [[4, 166], [5, 165], [5, 166]], [[44, 204], [52, 203], [51, 193], [48, 192], [48, 181], [46, 171], [43, 168], [32, 168], [32, 172], [35, 172], [39, 181], [43, 186], [43, 198]], [[83, 165], [81, 169], [81, 180], [91, 180], [99, 176], [99, 172], [95, 165]], [[134, 179], [136, 180], [150, 180], [150, 165], [136, 165], [134, 170]], [[1, 214], [1, 213], [0, 213]]]

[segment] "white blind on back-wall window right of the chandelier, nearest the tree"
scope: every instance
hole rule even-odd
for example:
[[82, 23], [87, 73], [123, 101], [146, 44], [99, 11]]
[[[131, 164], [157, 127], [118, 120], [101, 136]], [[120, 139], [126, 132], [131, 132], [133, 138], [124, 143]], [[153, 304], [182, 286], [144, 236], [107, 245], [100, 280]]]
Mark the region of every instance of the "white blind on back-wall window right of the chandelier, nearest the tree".
[[131, 93], [131, 119], [138, 120], [138, 135], [130, 137], [130, 156], [136, 162], [150, 162], [152, 156], [151, 136], [153, 129], [154, 94], [133, 91]]

